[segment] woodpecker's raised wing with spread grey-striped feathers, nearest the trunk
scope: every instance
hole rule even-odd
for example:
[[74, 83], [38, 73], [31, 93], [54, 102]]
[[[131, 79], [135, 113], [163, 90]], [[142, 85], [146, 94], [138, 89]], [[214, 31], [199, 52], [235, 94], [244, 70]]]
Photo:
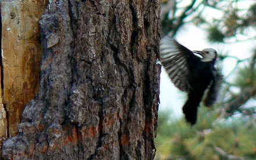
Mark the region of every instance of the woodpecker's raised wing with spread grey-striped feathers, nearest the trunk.
[[[196, 58], [191, 50], [179, 44], [169, 35], [161, 39], [160, 43], [161, 64], [169, 74], [174, 85], [182, 90], [189, 91], [189, 66], [188, 59]], [[199, 59], [199, 57], [197, 57]]]

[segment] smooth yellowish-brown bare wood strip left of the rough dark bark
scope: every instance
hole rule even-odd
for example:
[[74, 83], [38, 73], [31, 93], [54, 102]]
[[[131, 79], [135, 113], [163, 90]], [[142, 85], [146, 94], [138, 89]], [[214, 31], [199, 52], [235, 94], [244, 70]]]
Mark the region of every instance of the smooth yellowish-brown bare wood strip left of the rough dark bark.
[[2, 141], [18, 133], [23, 109], [38, 92], [39, 20], [46, 3], [1, 1], [0, 156]]

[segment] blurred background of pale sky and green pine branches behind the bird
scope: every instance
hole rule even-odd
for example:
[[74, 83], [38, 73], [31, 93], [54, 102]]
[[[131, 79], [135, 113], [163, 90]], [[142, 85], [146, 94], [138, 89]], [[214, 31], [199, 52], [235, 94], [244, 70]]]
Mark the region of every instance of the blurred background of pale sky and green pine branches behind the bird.
[[186, 93], [162, 67], [156, 159], [256, 159], [256, 1], [161, 0], [161, 36], [190, 50], [214, 48], [224, 76], [212, 108], [185, 122]]

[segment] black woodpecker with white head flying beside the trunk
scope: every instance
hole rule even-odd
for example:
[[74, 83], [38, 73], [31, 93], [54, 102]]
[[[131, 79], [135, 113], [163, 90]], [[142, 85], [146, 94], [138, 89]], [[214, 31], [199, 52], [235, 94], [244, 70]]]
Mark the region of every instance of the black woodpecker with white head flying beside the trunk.
[[188, 93], [188, 100], [182, 111], [191, 125], [196, 123], [197, 107], [204, 96], [204, 106], [211, 107], [217, 99], [222, 75], [214, 67], [217, 52], [212, 48], [189, 50], [170, 35], [161, 39], [161, 64], [169, 74], [176, 88]]

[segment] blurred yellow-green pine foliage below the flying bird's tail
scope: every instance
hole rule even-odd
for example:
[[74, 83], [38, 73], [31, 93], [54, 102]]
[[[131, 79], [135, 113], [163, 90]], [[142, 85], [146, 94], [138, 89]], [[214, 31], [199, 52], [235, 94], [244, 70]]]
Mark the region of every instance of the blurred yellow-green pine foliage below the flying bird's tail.
[[[159, 119], [165, 119], [167, 114], [171, 115], [168, 111], [160, 112]], [[156, 159], [255, 158], [256, 126], [248, 125], [248, 119], [216, 120], [216, 117], [218, 112], [203, 106], [195, 126], [168, 117], [165, 128], [158, 130]]]

